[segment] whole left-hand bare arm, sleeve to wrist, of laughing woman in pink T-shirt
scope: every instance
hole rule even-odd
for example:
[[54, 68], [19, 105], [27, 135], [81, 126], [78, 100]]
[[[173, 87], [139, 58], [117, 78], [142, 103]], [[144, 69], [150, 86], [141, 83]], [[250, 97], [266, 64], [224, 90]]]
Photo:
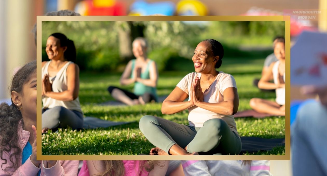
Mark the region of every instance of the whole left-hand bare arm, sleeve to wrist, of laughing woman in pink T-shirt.
[[193, 100], [184, 101], [186, 98], [188, 98], [186, 92], [182, 91], [179, 87], [175, 87], [163, 101], [161, 112], [163, 114], [174, 114], [194, 106]]

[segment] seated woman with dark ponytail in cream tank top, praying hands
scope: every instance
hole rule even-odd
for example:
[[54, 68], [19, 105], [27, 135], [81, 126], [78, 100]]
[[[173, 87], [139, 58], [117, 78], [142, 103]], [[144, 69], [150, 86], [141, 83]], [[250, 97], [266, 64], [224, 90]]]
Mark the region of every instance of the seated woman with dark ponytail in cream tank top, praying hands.
[[42, 132], [57, 127], [82, 128], [74, 42], [61, 33], [54, 33], [48, 37], [45, 51], [50, 61], [42, 62]]

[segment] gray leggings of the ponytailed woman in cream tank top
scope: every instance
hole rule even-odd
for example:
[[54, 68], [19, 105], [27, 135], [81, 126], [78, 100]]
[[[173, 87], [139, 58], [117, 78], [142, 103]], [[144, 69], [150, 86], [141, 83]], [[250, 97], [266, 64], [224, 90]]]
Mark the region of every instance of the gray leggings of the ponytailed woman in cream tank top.
[[56, 127], [73, 129], [83, 127], [83, 114], [76, 110], [68, 110], [62, 106], [42, 110], [42, 129], [54, 129]]

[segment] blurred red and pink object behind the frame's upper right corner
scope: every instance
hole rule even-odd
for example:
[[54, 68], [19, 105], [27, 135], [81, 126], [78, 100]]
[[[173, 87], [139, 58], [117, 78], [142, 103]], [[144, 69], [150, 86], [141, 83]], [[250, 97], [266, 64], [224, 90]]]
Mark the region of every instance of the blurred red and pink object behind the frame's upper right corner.
[[[286, 11], [285, 11], [286, 12]], [[282, 13], [274, 10], [259, 8], [259, 7], [251, 7], [246, 13], [241, 14], [244, 16], [288, 16], [291, 14]], [[313, 27], [310, 20], [297, 20], [291, 18], [290, 20], [290, 34], [292, 37], [298, 36], [302, 33], [302, 31], [318, 31], [316, 27]]]

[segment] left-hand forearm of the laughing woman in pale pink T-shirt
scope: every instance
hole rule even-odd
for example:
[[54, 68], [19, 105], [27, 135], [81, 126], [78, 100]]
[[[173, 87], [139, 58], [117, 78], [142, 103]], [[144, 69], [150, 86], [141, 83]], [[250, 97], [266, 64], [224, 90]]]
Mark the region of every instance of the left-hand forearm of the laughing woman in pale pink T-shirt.
[[163, 114], [174, 114], [186, 110], [194, 106], [190, 101], [176, 102], [176, 101], [163, 101], [161, 112]]

